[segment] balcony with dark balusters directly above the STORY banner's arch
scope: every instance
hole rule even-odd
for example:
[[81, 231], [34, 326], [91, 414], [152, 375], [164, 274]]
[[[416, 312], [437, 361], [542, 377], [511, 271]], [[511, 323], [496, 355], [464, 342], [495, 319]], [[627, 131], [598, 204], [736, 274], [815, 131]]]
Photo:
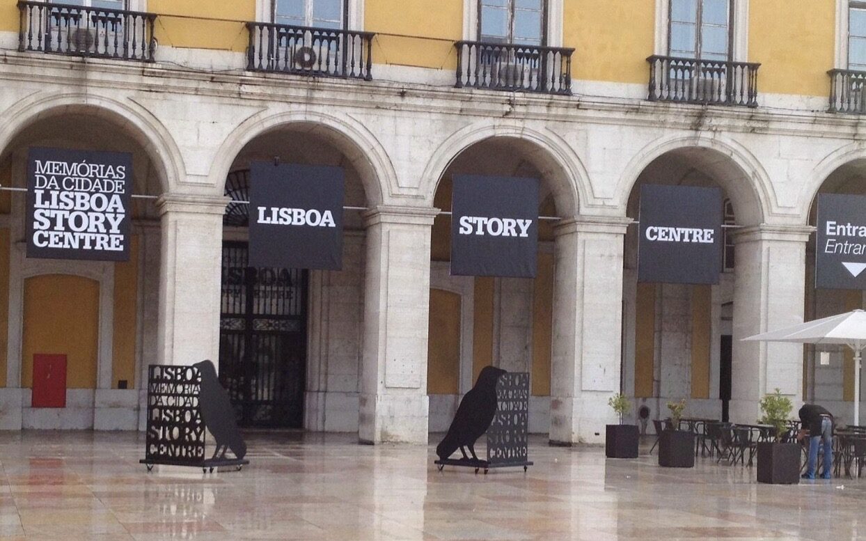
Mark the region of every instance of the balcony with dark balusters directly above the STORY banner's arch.
[[457, 88], [572, 93], [573, 48], [456, 42]]

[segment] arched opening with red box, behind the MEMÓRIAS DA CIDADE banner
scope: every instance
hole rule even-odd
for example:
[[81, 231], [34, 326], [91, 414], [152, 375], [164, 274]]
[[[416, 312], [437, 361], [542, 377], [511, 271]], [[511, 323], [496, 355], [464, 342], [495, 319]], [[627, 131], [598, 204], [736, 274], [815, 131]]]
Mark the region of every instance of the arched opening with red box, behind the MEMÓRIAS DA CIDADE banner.
[[[0, 395], [23, 405], [4, 409], [0, 426], [137, 429], [143, 426], [139, 389], [146, 367], [158, 362], [155, 199], [169, 168], [155, 158], [150, 135], [99, 106], [51, 107], [17, 126], [0, 151], [0, 184], [17, 190], [0, 191]], [[27, 158], [37, 147], [132, 155], [128, 261], [26, 256]], [[66, 402], [59, 411], [32, 400], [40, 384], [34, 363], [43, 354], [66, 357]]]

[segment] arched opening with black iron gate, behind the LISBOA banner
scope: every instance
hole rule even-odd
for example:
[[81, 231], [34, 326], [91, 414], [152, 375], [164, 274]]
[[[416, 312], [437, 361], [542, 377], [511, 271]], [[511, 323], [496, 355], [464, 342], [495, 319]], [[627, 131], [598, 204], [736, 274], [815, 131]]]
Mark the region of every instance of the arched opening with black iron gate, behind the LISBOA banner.
[[[365, 297], [359, 209], [368, 206], [362, 175], [370, 174], [361, 156], [332, 128], [294, 122], [255, 136], [231, 164], [225, 195], [240, 203], [229, 203], [223, 218], [219, 371], [242, 426], [358, 430]], [[345, 205], [354, 209], [344, 213], [341, 270], [248, 266], [245, 202], [255, 161], [345, 171]]]

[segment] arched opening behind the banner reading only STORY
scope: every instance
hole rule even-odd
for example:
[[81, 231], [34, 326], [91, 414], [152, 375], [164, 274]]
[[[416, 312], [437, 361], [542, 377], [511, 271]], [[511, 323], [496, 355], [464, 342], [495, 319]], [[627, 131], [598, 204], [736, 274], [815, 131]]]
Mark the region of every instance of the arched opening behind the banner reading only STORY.
[[[545, 149], [518, 137], [492, 137], [463, 149], [443, 172], [434, 206], [451, 209], [456, 175], [540, 179], [539, 248], [534, 278], [452, 276], [451, 218], [436, 216], [430, 249], [428, 381], [430, 432], [446, 430], [484, 366], [530, 373], [529, 430], [550, 428], [553, 340], [553, 227], [573, 193]], [[565, 186], [565, 187], [564, 187]], [[507, 254], [503, 254], [507, 257]], [[445, 352], [448, 353], [445, 353]]]

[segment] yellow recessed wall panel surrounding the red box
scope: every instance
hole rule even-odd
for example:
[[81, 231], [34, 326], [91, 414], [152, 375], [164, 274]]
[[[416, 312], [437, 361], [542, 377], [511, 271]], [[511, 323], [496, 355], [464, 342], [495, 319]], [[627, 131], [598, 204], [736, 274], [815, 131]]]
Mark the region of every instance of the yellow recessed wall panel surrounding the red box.
[[100, 285], [46, 274], [24, 280], [22, 387], [33, 385], [33, 354], [67, 355], [67, 389], [96, 388]]

